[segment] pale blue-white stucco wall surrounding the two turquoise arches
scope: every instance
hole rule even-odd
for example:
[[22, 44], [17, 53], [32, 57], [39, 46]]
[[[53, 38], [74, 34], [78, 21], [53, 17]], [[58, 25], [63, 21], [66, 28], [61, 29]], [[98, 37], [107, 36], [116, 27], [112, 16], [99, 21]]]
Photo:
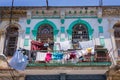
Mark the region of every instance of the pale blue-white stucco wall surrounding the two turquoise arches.
[[[32, 30], [34, 29], [34, 27], [37, 23], [39, 23], [43, 20], [45, 20], [45, 19], [31, 19], [31, 23], [27, 24], [26, 18], [19, 19], [18, 24], [21, 27], [21, 33], [19, 34], [18, 47], [24, 47], [26, 49], [30, 49], [30, 41], [32, 40], [32, 37], [33, 37]], [[78, 19], [77, 18], [65, 19], [64, 24], [62, 24], [60, 22], [60, 19], [47, 19], [47, 20], [53, 22], [55, 24], [55, 26], [57, 27], [57, 29], [59, 30], [57, 37], [56, 37], [57, 40], [60, 40], [60, 34], [61, 34], [60, 27], [61, 26], [65, 27], [65, 38], [66, 38], [66, 40], [68, 40], [68, 33], [66, 30], [69, 28], [69, 26], [72, 22], [74, 22]], [[105, 39], [105, 47], [107, 47], [108, 49], [112, 48], [112, 44], [114, 44], [114, 43], [111, 44], [111, 42], [112, 42], [111, 35], [108, 32], [108, 30], [112, 29], [112, 26], [117, 22], [117, 19], [115, 19], [111, 22], [111, 26], [110, 26], [110, 23], [107, 18], [103, 18], [101, 23], [98, 22], [98, 18], [80, 18], [80, 20], [86, 21], [94, 29], [93, 40], [95, 41], [96, 45], [100, 44], [99, 36], [101, 36], [101, 34], [99, 34], [98, 26], [103, 26], [104, 32], [103, 32], [102, 36], [104, 36], [104, 39]], [[5, 28], [4, 27], [4, 26], [6, 26], [6, 25], [4, 25], [5, 23], [7, 23], [7, 22], [2, 22], [0, 24], [1, 29]], [[25, 34], [26, 27], [30, 27], [30, 30], [31, 30], [30, 34]], [[29, 39], [29, 46], [24, 46], [23, 43], [24, 43], [25, 38]]]

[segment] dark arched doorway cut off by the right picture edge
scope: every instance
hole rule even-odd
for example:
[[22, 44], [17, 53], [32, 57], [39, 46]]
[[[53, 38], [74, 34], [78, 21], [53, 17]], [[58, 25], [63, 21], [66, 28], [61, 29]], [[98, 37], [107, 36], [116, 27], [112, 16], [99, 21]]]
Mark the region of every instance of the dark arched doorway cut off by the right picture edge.
[[114, 29], [116, 48], [118, 50], [118, 56], [120, 57], [120, 22], [116, 23], [113, 26], [113, 29]]

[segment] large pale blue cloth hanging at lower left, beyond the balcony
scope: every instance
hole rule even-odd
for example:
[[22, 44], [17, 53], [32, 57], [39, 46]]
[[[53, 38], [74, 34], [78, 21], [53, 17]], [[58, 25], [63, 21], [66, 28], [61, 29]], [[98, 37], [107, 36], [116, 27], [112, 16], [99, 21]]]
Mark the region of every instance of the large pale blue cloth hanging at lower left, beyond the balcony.
[[17, 50], [9, 62], [9, 65], [16, 70], [25, 70], [27, 64], [27, 56], [23, 55], [21, 50]]

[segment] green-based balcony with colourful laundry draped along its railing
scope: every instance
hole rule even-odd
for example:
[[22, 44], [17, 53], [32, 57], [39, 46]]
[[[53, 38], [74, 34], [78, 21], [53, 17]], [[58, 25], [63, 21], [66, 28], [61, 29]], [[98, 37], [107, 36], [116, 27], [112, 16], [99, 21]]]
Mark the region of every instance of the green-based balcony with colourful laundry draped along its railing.
[[[53, 51], [49, 54], [49, 61], [37, 61], [36, 56], [44, 56], [47, 51], [32, 51], [27, 67], [102, 67], [111, 66], [111, 59], [106, 48], [97, 46], [94, 53], [85, 53], [78, 50]], [[39, 53], [39, 54], [38, 54]], [[30, 55], [31, 55], [30, 54]], [[43, 54], [43, 55], [42, 55]], [[34, 56], [35, 55], [35, 56]], [[51, 56], [50, 56], [51, 55]], [[65, 57], [66, 56], [66, 57]], [[41, 57], [43, 58], [43, 57]]]

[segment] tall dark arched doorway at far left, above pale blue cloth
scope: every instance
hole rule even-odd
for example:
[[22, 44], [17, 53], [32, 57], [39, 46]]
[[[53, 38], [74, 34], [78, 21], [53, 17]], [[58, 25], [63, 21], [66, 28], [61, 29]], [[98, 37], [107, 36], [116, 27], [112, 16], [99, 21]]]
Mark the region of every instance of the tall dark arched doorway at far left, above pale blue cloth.
[[17, 48], [17, 41], [18, 41], [18, 27], [16, 26], [9, 26], [6, 29], [6, 38], [4, 43], [4, 54], [6, 56], [13, 56], [16, 48]]

